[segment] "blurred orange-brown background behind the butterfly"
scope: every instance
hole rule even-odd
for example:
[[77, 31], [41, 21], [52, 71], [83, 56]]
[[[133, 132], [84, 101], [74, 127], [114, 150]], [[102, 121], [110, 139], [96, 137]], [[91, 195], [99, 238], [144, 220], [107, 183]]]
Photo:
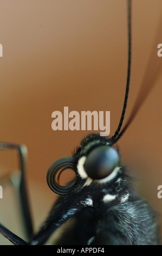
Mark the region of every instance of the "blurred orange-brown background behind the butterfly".
[[[126, 120], [141, 86], [161, 15], [161, 1], [133, 1]], [[53, 131], [53, 111], [63, 113], [64, 106], [69, 112], [110, 111], [111, 135], [118, 126], [127, 77], [127, 5], [120, 0], [1, 1], [0, 31], [0, 138], [28, 147], [27, 178], [37, 230], [56, 198], [46, 182], [50, 164], [70, 156], [89, 133]], [[138, 179], [140, 195], [160, 215], [161, 82], [162, 75], [118, 142], [123, 162]], [[1, 150], [0, 162], [0, 176], [18, 168], [15, 151]], [[0, 220], [23, 237], [12, 188], [4, 180], [0, 184]], [[0, 244], [8, 241], [0, 236]]]

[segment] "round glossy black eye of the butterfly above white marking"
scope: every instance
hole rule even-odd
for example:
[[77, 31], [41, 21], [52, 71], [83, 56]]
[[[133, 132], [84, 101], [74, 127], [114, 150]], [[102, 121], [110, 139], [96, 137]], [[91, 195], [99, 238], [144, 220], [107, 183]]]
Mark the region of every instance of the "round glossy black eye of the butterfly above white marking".
[[84, 167], [89, 178], [100, 180], [111, 174], [118, 163], [118, 152], [112, 147], [102, 145], [90, 151]]

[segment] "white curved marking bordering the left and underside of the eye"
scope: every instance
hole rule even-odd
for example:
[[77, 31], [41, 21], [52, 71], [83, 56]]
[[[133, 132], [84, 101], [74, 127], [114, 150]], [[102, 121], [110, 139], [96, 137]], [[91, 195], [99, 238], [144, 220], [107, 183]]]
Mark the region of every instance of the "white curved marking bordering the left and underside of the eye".
[[100, 180], [93, 180], [91, 178], [88, 177], [87, 173], [85, 172], [85, 168], [84, 168], [84, 164], [86, 162], [86, 156], [82, 156], [78, 163], [77, 163], [77, 170], [79, 175], [81, 176], [82, 179], [86, 179], [86, 182], [83, 186], [88, 186], [90, 185], [90, 183], [92, 181], [98, 182], [98, 183], [106, 183], [107, 181], [110, 181], [112, 179], [115, 178], [115, 176], [117, 175], [117, 173], [120, 170], [120, 167], [115, 167], [115, 169], [113, 170], [113, 172], [111, 174], [109, 174], [106, 178], [100, 179]]

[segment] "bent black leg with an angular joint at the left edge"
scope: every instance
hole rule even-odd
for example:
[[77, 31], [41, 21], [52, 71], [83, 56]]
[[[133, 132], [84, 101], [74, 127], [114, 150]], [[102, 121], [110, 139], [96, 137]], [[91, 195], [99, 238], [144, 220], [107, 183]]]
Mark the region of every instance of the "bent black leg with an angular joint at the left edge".
[[20, 160], [20, 185], [18, 187], [18, 194], [20, 195], [20, 205], [23, 214], [24, 227], [28, 238], [33, 236], [33, 224], [31, 221], [29, 200], [27, 194], [27, 186], [25, 182], [25, 161], [27, 160], [27, 147], [25, 145], [17, 145], [0, 142], [0, 149], [16, 149]]

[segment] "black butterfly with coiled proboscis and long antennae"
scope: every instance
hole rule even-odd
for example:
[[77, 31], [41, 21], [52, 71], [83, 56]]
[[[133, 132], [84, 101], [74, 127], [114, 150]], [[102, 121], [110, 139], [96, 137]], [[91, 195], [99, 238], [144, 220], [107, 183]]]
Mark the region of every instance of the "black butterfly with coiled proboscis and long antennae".
[[[33, 234], [28, 196], [25, 186], [25, 151], [23, 145], [1, 143], [1, 149], [14, 148], [20, 156], [21, 197], [24, 219], [29, 234], [26, 242], [0, 225], [0, 232], [15, 245], [42, 245], [67, 220], [72, 220], [56, 245], [156, 245], [159, 243], [155, 212], [141, 199], [132, 185], [132, 178], [122, 164], [116, 142], [124, 135], [160, 74], [160, 64], [152, 65], [151, 56], [137, 101], [126, 124], [126, 112], [131, 75], [131, 1], [128, 1], [128, 70], [124, 107], [118, 128], [112, 137], [92, 133], [82, 139], [72, 157], [51, 164], [47, 182], [52, 191], [60, 194], [41, 229]], [[158, 59], [160, 63], [160, 59]], [[148, 75], [149, 74], [149, 75]], [[72, 169], [75, 179], [61, 186], [60, 175]], [[58, 175], [58, 172], [59, 175]], [[58, 176], [57, 176], [58, 175]]]

